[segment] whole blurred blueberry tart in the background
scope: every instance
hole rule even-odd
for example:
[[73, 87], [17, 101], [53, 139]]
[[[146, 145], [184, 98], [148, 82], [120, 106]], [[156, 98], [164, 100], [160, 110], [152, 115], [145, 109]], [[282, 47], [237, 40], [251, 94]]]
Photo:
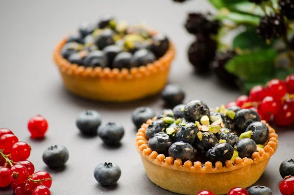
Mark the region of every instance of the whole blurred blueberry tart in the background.
[[105, 15], [63, 38], [53, 60], [73, 94], [119, 102], [159, 93], [167, 83], [174, 55], [165, 35]]

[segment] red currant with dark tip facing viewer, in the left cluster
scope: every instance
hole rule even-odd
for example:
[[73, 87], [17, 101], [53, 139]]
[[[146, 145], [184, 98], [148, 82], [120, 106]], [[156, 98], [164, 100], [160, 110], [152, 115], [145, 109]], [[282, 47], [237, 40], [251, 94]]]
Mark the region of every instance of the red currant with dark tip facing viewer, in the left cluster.
[[10, 179], [12, 182], [25, 183], [28, 178], [28, 171], [23, 165], [15, 165], [10, 169]]

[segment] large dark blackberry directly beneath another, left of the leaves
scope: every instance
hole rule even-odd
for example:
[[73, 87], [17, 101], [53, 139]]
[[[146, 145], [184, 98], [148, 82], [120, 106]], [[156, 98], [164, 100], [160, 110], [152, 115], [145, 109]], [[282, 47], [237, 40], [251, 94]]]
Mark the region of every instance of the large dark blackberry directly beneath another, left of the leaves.
[[198, 73], [207, 73], [212, 59], [215, 58], [217, 42], [209, 37], [197, 36], [188, 49], [190, 63]]

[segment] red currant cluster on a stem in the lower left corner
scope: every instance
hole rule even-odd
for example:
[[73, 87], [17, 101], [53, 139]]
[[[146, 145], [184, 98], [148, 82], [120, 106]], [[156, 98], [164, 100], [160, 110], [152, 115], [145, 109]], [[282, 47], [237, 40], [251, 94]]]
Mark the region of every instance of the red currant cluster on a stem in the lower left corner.
[[0, 187], [10, 184], [15, 195], [50, 195], [52, 178], [48, 172], [35, 172], [26, 160], [31, 147], [9, 129], [0, 129]]

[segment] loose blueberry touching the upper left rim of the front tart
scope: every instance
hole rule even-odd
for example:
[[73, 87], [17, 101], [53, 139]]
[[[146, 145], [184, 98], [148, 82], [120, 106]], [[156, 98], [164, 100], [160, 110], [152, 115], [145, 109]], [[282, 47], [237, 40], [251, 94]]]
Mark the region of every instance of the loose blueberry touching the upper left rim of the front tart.
[[132, 121], [137, 128], [140, 128], [141, 125], [147, 122], [148, 119], [152, 119], [156, 114], [154, 110], [150, 107], [139, 107], [132, 113]]

